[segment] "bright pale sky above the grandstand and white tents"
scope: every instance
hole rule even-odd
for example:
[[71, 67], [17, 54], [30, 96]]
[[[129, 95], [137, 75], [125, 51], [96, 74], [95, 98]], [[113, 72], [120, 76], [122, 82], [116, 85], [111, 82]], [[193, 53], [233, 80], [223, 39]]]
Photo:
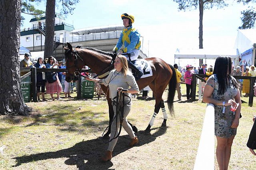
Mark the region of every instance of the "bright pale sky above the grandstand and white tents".
[[[58, 0], [56, 0], [58, 2]], [[80, 2], [75, 6], [73, 14], [65, 18], [66, 23], [74, 25], [75, 29], [96, 27], [102, 25], [122, 25], [121, 14], [133, 14], [136, 27], [144, 39], [144, 47], [148, 47], [148, 57], [159, 57], [167, 63], [174, 64], [176, 49], [199, 48], [199, 10], [179, 11], [178, 4], [172, 0], [97, 0]], [[214, 7], [204, 10], [203, 16], [203, 46], [205, 49], [231, 49], [241, 21], [241, 11], [249, 5], [237, 4], [226, 0], [229, 6], [222, 9]], [[45, 4], [38, 8], [45, 10]], [[251, 5], [252, 6], [252, 5]], [[58, 9], [56, 9], [58, 12]], [[31, 16], [24, 15], [22, 28], [31, 27]], [[210, 62], [209, 60], [207, 62]], [[214, 63], [214, 61], [211, 61]], [[192, 64], [198, 66], [195, 59], [184, 59], [181, 66]]]

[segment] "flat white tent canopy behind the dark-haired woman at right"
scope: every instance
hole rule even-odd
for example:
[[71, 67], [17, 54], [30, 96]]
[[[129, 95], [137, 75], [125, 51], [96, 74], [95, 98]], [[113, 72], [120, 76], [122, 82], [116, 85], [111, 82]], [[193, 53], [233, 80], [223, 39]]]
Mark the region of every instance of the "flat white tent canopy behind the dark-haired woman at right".
[[216, 59], [220, 55], [238, 58], [236, 49], [177, 49], [174, 59]]

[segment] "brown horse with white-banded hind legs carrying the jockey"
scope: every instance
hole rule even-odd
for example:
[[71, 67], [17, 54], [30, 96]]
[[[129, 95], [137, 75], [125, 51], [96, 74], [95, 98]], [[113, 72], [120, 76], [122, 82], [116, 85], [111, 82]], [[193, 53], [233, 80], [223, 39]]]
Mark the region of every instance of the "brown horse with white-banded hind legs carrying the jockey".
[[[110, 70], [110, 65], [112, 63], [112, 58], [114, 57], [114, 54], [106, 53], [104, 51], [93, 48], [73, 48], [70, 43], [67, 43], [67, 45], [68, 48], [65, 47], [67, 82], [70, 82], [74, 76], [78, 76], [78, 74], [80, 74], [80, 70], [85, 65], [89, 66], [92, 69], [92, 72], [96, 73], [99, 76], [103, 75], [102, 78], [106, 78], [107, 75], [104, 73]], [[167, 114], [165, 111], [162, 94], [168, 85], [168, 108], [170, 110], [170, 114], [174, 115], [173, 100], [176, 90], [176, 72], [173, 66], [165, 63], [159, 58], [146, 58], [145, 60], [150, 63], [153, 76], [141, 78], [137, 80], [137, 84], [140, 90], [146, 86], [150, 86], [156, 99], [154, 114], [150, 120], [148, 127], [145, 130], [145, 133], [148, 134], [150, 133], [150, 128], [154, 123], [154, 119], [158, 114], [160, 107], [162, 108], [162, 113], [164, 115], [164, 121], [162, 123], [162, 126], [166, 126]], [[107, 87], [104, 85], [101, 85], [101, 87], [102, 90], [106, 93]], [[111, 122], [114, 117], [114, 111], [111, 104], [112, 101], [109, 98], [109, 94], [107, 94], [107, 100], [109, 109], [109, 122]], [[110, 128], [108, 128], [108, 132], [104, 135], [104, 137], [109, 136]]]

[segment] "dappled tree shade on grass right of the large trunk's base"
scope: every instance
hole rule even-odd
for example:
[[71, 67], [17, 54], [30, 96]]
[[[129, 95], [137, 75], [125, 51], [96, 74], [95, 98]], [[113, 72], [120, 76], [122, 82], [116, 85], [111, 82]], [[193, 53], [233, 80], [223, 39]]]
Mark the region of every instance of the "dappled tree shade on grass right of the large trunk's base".
[[82, 106], [71, 104], [45, 106], [38, 112], [33, 112], [29, 116], [10, 117], [6, 116], [2, 120], [12, 124], [26, 124], [24, 127], [33, 125], [51, 124], [56, 125], [62, 131], [83, 131], [84, 127], [97, 125], [108, 125], [108, 121], [96, 121], [97, 117], [102, 117], [104, 112], [80, 111]]

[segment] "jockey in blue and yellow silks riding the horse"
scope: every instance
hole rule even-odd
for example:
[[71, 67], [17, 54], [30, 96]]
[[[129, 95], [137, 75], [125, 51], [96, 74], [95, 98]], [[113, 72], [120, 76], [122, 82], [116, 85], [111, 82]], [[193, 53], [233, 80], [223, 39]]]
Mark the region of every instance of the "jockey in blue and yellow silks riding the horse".
[[[121, 18], [123, 20], [124, 29], [113, 51], [117, 51], [117, 53], [126, 56], [129, 67], [135, 70], [136, 78], [140, 78], [142, 72], [134, 65], [140, 53], [140, 33], [132, 27], [134, 16], [124, 13], [121, 15]], [[120, 50], [122, 45], [124, 45], [124, 49]]]

